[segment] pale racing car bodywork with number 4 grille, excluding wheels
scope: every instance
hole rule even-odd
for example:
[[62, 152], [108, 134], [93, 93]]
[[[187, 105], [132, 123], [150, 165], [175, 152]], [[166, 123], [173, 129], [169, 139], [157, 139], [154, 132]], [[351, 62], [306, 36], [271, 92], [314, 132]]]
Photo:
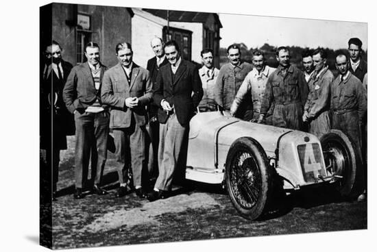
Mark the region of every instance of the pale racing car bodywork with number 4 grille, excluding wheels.
[[245, 136], [263, 147], [284, 189], [335, 179], [326, 171], [321, 142], [313, 134], [242, 121], [221, 111], [200, 112], [191, 119], [186, 179], [223, 183], [230, 147]]

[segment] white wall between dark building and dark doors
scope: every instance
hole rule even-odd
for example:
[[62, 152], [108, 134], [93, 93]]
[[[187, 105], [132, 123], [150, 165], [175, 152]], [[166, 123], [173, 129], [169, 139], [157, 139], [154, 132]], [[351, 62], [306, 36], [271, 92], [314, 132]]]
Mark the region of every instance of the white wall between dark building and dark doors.
[[162, 25], [138, 14], [132, 18], [132, 51], [134, 51], [134, 62], [139, 66], [147, 68], [148, 60], [154, 57], [151, 39], [154, 36], [161, 38], [162, 28]]

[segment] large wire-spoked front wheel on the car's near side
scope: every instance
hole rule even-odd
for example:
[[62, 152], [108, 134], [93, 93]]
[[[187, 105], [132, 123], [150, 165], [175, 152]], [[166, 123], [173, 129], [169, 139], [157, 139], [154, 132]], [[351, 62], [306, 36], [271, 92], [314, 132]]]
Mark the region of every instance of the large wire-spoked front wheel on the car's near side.
[[267, 155], [256, 140], [245, 137], [233, 142], [226, 158], [226, 188], [241, 216], [255, 220], [267, 211], [272, 176]]

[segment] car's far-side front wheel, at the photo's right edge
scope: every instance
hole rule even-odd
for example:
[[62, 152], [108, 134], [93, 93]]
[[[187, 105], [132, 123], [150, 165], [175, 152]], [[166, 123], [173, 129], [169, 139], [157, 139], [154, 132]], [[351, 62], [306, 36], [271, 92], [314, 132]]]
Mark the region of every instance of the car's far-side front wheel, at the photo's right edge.
[[325, 166], [330, 175], [339, 175], [336, 190], [343, 197], [363, 192], [363, 164], [354, 143], [342, 131], [331, 129], [321, 137]]

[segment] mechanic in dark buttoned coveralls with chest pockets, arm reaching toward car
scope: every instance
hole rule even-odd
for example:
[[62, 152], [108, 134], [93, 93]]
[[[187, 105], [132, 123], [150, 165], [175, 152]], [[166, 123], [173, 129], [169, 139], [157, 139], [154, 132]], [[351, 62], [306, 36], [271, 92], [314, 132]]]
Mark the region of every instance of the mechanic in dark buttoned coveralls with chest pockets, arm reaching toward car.
[[267, 80], [258, 123], [263, 122], [265, 114], [274, 103], [273, 126], [302, 129], [302, 114], [308, 96], [304, 74], [291, 65], [287, 47], [278, 48], [276, 59], [279, 66]]

